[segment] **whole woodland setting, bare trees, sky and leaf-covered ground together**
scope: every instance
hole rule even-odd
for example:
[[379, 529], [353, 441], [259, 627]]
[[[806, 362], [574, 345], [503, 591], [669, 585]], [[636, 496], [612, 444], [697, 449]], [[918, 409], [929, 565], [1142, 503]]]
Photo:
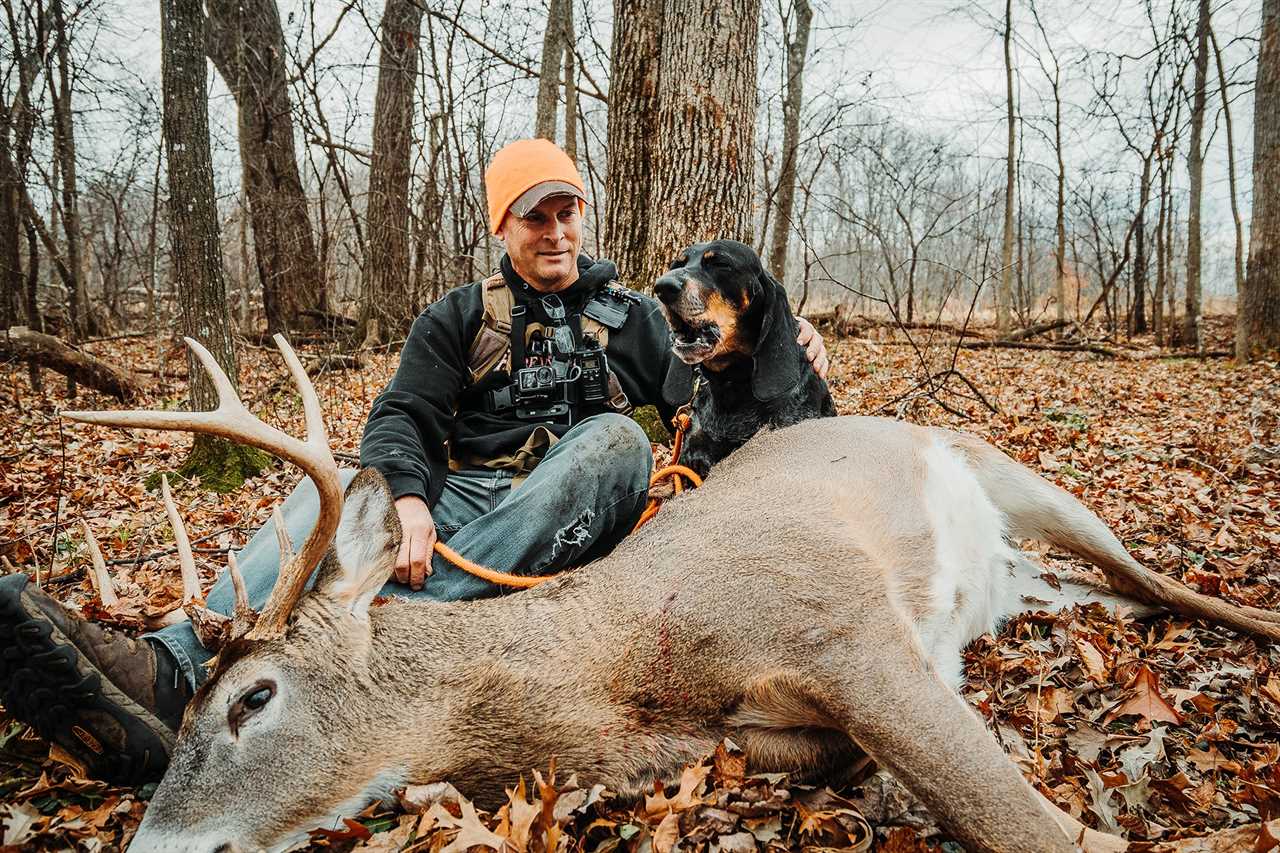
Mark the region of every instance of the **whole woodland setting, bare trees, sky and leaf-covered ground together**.
[[[485, 164], [540, 134], [579, 163], [585, 248], [626, 284], [742, 238], [824, 330], [841, 414], [963, 426], [1144, 565], [1280, 607], [1280, 0], [1116, 5], [0, 0], [0, 566], [140, 630], [180, 603], [145, 488], [179, 469], [207, 589], [297, 471], [59, 409], [210, 407], [186, 333], [297, 433], [265, 346], [284, 332], [357, 461], [408, 324], [498, 261]], [[1015, 620], [966, 665], [969, 703], [1092, 826], [1165, 852], [1280, 836], [1276, 649], [1076, 608]], [[936, 833], [901, 792], [713, 763], [680, 825], [718, 849]], [[0, 715], [0, 847], [127, 844], [148, 795]], [[401, 806], [330, 841], [456, 840]], [[512, 845], [669, 849], [669, 813], [557, 806]]]

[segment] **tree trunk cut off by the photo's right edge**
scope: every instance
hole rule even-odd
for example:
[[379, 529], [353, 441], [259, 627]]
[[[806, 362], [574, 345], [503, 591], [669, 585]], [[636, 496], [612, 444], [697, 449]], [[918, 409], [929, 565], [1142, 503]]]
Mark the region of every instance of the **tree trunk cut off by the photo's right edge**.
[[1280, 350], [1280, 0], [1263, 0], [1253, 101], [1253, 220], [1236, 359]]

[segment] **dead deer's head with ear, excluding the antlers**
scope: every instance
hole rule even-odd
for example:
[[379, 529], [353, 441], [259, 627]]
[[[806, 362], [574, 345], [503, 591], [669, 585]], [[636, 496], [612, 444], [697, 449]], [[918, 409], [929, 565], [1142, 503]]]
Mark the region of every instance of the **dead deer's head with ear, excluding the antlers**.
[[334, 547], [284, 633], [219, 652], [131, 849], [283, 849], [404, 783], [352, 749], [358, 733], [385, 729], [371, 720], [388, 695], [369, 608], [396, 560], [399, 521], [374, 470], [346, 498]]

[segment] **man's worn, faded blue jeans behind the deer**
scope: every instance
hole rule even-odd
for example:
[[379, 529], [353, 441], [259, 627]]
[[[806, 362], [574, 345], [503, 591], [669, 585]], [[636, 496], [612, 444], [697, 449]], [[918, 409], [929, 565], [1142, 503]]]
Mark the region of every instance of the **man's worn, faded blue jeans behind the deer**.
[[[596, 415], [564, 433], [518, 488], [513, 488], [509, 471], [449, 471], [431, 517], [440, 542], [474, 562], [499, 571], [549, 574], [608, 553], [631, 532], [644, 511], [652, 466], [649, 439], [634, 420]], [[356, 471], [344, 469], [340, 475], [346, 488]], [[294, 547], [311, 532], [319, 508], [310, 479], [298, 483], [280, 506]], [[274, 528], [259, 528], [236, 557], [250, 603], [261, 608], [280, 571]], [[420, 590], [392, 580], [381, 594], [460, 601], [503, 592], [438, 553], [431, 557], [431, 570]], [[223, 573], [209, 590], [207, 603], [230, 613], [230, 575]], [[173, 653], [192, 689], [205, 680], [202, 665], [212, 656], [196, 639], [191, 622], [170, 625], [147, 639]]]

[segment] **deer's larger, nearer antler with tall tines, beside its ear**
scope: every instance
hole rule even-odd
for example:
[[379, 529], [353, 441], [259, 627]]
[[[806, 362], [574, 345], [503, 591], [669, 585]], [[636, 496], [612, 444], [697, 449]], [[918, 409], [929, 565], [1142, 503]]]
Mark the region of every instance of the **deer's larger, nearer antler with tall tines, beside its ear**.
[[[338, 464], [329, 450], [329, 437], [320, 414], [320, 400], [316, 397], [315, 387], [307, 378], [293, 348], [282, 336], [276, 334], [275, 346], [284, 356], [284, 362], [289, 366], [289, 374], [302, 397], [307, 435], [306, 441], [298, 441], [250, 414], [236, 393], [230, 379], [223, 373], [209, 350], [191, 338], [186, 338], [186, 341], [218, 391], [218, 409], [214, 411], [64, 411], [63, 415], [104, 426], [164, 429], [227, 438], [293, 462], [311, 478], [320, 493], [320, 516], [311, 535], [302, 544], [302, 551], [287, 565], [280, 566], [280, 574], [271, 589], [270, 598], [262, 607], [262, 613], [246, 634], [250, 639], [276, 638], [283, 635], [289, 612], [298, 597], [302, 596], [307, 578], [311, 576], [329, 548], [342, 516], [342, 483], [338, 478]], [[180, 526], [180, 519], [178, 526]], [[174, 534], [177, 535], [177, 528]], [[198, 589], [196, 597], [200, 597]], [[187, 590], [184, 590], [183, 598], [187, 598]]]

